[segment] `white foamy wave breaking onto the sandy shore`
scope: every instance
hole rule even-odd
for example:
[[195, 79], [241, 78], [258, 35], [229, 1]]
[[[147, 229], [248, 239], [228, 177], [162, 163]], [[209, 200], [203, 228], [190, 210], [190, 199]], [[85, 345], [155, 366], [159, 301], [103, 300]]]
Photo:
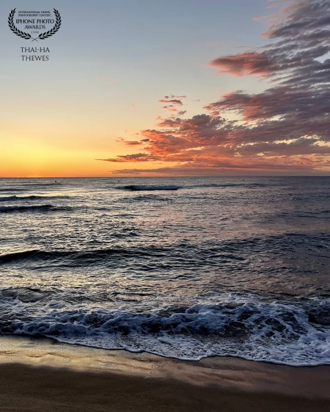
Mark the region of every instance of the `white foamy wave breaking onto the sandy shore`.
[[213, 304], [130, 312], [70, 306], [58, 295], [38, 290], [21, 295], [7, 290], [0, 294], [0, 332], [184, 360], [237, 356], [294, 366], [329, 365], [329, 309], [330, 299], [266, 302], [230, 295]]

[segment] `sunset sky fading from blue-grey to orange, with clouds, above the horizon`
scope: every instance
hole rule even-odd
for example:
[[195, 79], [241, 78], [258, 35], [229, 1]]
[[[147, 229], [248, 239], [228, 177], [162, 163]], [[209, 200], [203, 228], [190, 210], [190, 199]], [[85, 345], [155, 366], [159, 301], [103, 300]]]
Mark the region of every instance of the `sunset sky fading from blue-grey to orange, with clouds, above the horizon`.
[[[55, 8], [62, 25], [25, 40], [13, 8]], [[2, 177], [330, 174], [329, 0], [2, 0], [0, 12]]]

